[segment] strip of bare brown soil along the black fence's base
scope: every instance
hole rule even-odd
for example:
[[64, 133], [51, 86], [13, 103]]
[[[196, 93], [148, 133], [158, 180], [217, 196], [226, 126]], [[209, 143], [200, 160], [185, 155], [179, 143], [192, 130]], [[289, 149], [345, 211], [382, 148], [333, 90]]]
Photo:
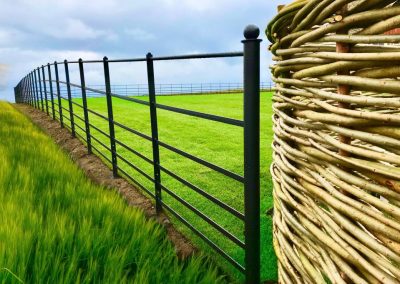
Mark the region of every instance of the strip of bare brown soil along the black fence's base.
[[198, 250], [197, 248], [172, 225], [164, 213], [156, 214], [154, 204], [149, 197], [124, 178], [113, 177], [112, 170], [94, 154], [87, 153], [87, 147], [78, 139], [71, 136], [66, 128], [52, 120], [46, 113], [29, 105], [16, 104], [14, 107], [27, 116], [36, 126], [43, 130], [52, 140], [69, 155], [72, 161], [79, 166], [85, 175], [95, 184], [106, 189], [117, 191], [127, 205], [143, 210], [146, 218], [156, 220], [166, 229], [168, 239], [173, 243], [179, 259], [186, 259]]

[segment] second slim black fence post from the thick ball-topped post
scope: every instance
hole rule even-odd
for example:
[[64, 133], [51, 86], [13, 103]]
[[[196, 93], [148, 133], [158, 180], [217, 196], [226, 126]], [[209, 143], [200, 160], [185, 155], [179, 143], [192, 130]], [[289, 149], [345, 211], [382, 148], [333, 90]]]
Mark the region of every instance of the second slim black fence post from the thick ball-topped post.
[[103, 58], [103, 67], [104, 67], [104, 81], [106, 86], [108, 128], [110, 131], [111, 161], [113, 167], [113, 176], [118, 177], [117, 148], [115, 146], [114, 114], [113, 114], [112, 97], [111, 97], [110, 69], [108, 66], [108, 58], [106, 56], [104, 56]]

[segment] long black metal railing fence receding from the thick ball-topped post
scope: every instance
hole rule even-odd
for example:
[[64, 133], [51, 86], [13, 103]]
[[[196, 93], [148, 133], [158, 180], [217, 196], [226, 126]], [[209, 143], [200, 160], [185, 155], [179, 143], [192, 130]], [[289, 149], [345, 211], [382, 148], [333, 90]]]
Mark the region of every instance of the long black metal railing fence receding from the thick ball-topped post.
[[[27, 74], [19, 84], [14, 88], [15, 90], [15, 101], [17, 103], [27, 103], [31, 106], [45, 111], [48, 115], [51, 115], [53, 119], [60, 121], [62, 127], [68, 127], [72, 135], [80, 136], [87, 144], [88, 153], [91, 154], [94, 150], [97, 154], [107, 160], [112, 166], [113, 175], [117, 177], [123, 175], [133, 181], [133, 183], [147, 192], [155, 200], [155, 209], [160, 212], [166, 209], [170, 214], [175, 216], [183, 224], [185, 224], [190, 230], [192, 230], [198, 237], [206, 242], [211, 248], [217, 253], [224, 257], [230, 262], [235, 268], [245, 274], [246, 283], [259, 283], [260, 282], [260, 42], [258, 39], [259, 29], [255, 26], [248, 26], [244, 31], [245, 39], [242, 41], [244, 45], [243, 52], [228, 52], [228, 53], [211, 53], [211, 54], [195, 54], [195, 55], [179, 55], [179, 56], [165, 56], [165, 57], [154, 57], [151, 53], [148, 53], [144, 58], [135, 59], [116, 59], [109, 60], [104, 57], [103, 60], [87, 60], [83, 61], [67, 61], [54, 62], [53, 64], [47, 64], [47, 66], [41, 66], [29, 74]], [[169, 60], [187, 60], [187, 59], [203, 59], [203, 58], [227, 58], [227, 57], [243, 57], [243, 92], [244, 92], [244, 120], [237, 120], [218, 115], [212, 115], [202, 113], [193, 110], [187, 110], [174, 106], [164, 105], [157, 103], [156, 101], [156, 84], [154, 80], [154, 65], [156, 61], [169, 61]], [[112, 90], [110, 83], [110, 64], [116, 62], [145, 62], [147, 66], [147, 95], [149, 101], [142, 99], [129, 97], [126, 95], [117, 94]], [[84, 65], [101, 63], [104, 69], [104, 81], [105, 90], [95, 89], [87, 87], [85, 82]], [[80, 83], [75, 84], [70, 82], [69, 67], [73, 64], [77, 64], [79, 67]], [[59, 68], [64, 69], [65, 81], [60, 79]], [[54, 74], [55, 78], [52, 78]], [[55, 88], [53, 85], [55, 84]], [[66, 95], [62, 94], [62, 86], [66, 87]], [[75, 101], [72, 97], [72, 88], [79, 88], [81, 90], [82, 105]], [[175, 92], [175, 91], [173, 91]], [[87, 104], [87, 93], [98, 94], [106, 97], [107, 115], [101, 114], [93, 109], [88, 108]], [[119, 98], [136, 104], [141, 104], [149, 107], [150, 112], [150, 124], [151, 124], [151, 136], [132, 129], [114, 119], [114, 108], [113, 98]], [[62, 104], [62, 100], [68, 102], [68, 107]], [[79, 107], [82, 109], [83, 117], [77, 115], [74, 108]], [[179, 113], [182, 115], [193, 116], [205, 120], [214, 122], [224, 123], [235, 127], [243, 128], [244, 130], [244, 175], [241, 176], [235, 172], [229, 171], [221, 166], [203, 160], [196, 157], [188, 152], [182, 151], [170, 144], [160, 141], [158, 138], [158, 119], [157, 110], [166, 110], [170, 112]], [[67, 114], [67, 115], [66, 115]], [[89, 114], [103, 119], [108, 122], [108, 132], [99, 129], [91, 121], [89, 121]], [[74, 120], [78, 119], [84, 126], [80, 126]], [[67, 122], [67, 123], [66, 123]], [[142, 153], [139, 153], [135, 149], [129, 147], [126, 143], [119, 140], [115, 135], [115, 128], [119, 127], [128, 131], [137, 137], [145, 139], [152, 144], [152, 159], [149, 159]], [[79, 128], [79, 134], [76, 129]], [[96, 130], [107, 137], [109, 144], [106, 145], [98, 138], [91, 134], [91, 130]], [[111, 159], [104, 154], [103, 151], [94, 146], [92, 139], [96, 141], [96, 145], [101, 145], [106, 149]], [[142, 169], [137, 167], [128, 161], [124, 156], [117, 152], [117, 145], [133, 153], [137, 157], [143, 159], [153, 167], [153, 175], [150, 176], [145, 173]], [[205, 166], [213, 171], [216, 171], [230, 179], [236, 180], [243, 184], [244, 187], [244, 213], [239, 212], [232, 206], [226, 204], [220, 199], [216, 198], [206, 190], [192, 184], [190, 181], [182, 178], [176, 173], [172, 172], [160, 160], [160, 148], [167, 149], [174, 152], [175, 154], [189, 159], [195, 163]], [[119, 166], [119, 162], [125, 162], [130, 167], [135, 169], [138, 173], [143, 175], [147, 180], [154, 184], [154, 189], [149, 190], [138, 182], [136, 177], [133, 177], [127, 173], [126, 170]], [[169, 175], [176, 179], [183, 185], [189, 187], [191, 190], [207, 198], [210, 202], [219, 206], [232, 216], [238, 218], [244, 222], [244, 241], [237, 236], [233, 235], [223, 226], [209, 218], [201, 210], [193, 206], [189, 201], [183, 199], [177, 193], [171, 191], [163, 181], [161, 180], [161, 172]], [[232, 241], [234, 244], [244, 249], [244, 265], [240, 264], [226, 251], [220, 248], [216, 243], [209, 239], [209, 237], [202, 233], [198, 228], [191, 224], [188, 220], [182, 217], [171, 205], [165, 203], [162, 198], [162, 193], [165, 192], [172, 196], [177, 202], [181, 203], [184, 207], [191, 210], [199, 218], [203, 219], [210, 226], [216, 229], [219, 233], [225, 236], [227, 239]]]

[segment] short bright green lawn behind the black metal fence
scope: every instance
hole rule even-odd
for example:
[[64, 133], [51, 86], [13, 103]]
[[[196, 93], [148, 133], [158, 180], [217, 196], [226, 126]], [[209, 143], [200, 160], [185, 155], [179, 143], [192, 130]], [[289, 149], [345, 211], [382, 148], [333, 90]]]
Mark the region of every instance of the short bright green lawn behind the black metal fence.
[[[271, 162], [270, 145], [273, 135], [271, 127], [271, 97], [271, 93], [262, 93], [261, 95], [261, 265], [262, 278], [264, 280], [277, 278], [276, 258], [272, 247], [272, 219], [266, 214], [266, 211], [272, 207], [272, 182], [269, 174], [269, 165]], [[147, 97], [139, 98], [148, 100]], [[68, 108], [67, 101], [62, 101], [63, 106]], [[75, 99], [75, 102], [81, 104], [80, 99]], [[157, 97], [157, 102], [235, 119], [243, 119], [242, 94], [159, 96]], [[113, 98], [113, 106], [115, 121], [147, 135], [151, 135], [148, 106], [128, 102], [118, 98]], [[88, 107], [94, 111], [107, 115], [106, 101], [103, 97], [89, 98]], [[81, 108], [74, 106], [74, 110], [78, 115], [83, 117]], [[177, 114], [166, 110], [158, 109], [157, 113], [160, 141], [243, 175], [242, 128]], [[68, 116], [68, 113], [66, 115]], [[89, 114], [89, 120], [93, 125], [108, 133], [107, 121], [93, 114]], [[84, 128], [82, 121], [75, 118], [75, 122]], [[65, 121], [65, 123], [69, 125], [69, 121]], [[77, 132], [85, 137], [81, 130], [77, 130]], [[103, 136], [101, 133], [93, 128], [91, 128], [91, 133], [106, 145], [109, 145], [108, 138]], [[151, 142], [119, 127], [116, 127], [116, 138], [144, 154], [146, 157], [150, 159], [152, 158]], [[103, 153], [110, 157], [110, 154], [107, 153], [99, 143], [93, 140], [92, 142], [95, 147], [101, 149]], [[152, 165], [130, 153], [123, 147], [118, 146], [117, 152], [139, 168], [143, 169], [150, 176], [153, 175]], [[227, 178], [162, 147], [160, 147], [160, 161], [162, 166], [199, 186], [228, 205], [243, 212], [244, 191], [243, 185], [239, 182]], [[154, 192], [154, 185], [140, 173], [121, 160], [119, 160], [118, 163], [122, 169]], [[218, 222], [238, 238], [244, 240], [244, 226], [241, 220], [230, 215], [230, 213], [227, 213], [219, 206], [214, 205], [212, 202], [165, 173], [162, 173], [161, 181], [171, 191], [190, 202], [193, 206], [204, 212], [212, 220]], [[209, 236], [212, 241], [243, 264], [244, 253], [241, 248], [223, 237], [218, 231], [186, 207], [175, 201], [174, 198], [169, 196], [166, 192], [162, 193], [162, 198], [166, 204], [171, 205], [171, 207], [178, 211], [184, 218], [189, 220], [194, 226]], [[190, 236], [197, 246], [203, 248], [203, 251], [209, 252], [210, 255], [216, 255], [216, 253], [214, 253], [202, 241], [199, 241], [199, 239], [197, 239], [184, 225], [178, 221], [176, 221], [175, 224], [186, 235]], [[224, 263], [226, 269], [235, 274], [235, 277], [241, 277], [240, 273], [234, 268], [226, 264], [224, 261], [221, 262]]]

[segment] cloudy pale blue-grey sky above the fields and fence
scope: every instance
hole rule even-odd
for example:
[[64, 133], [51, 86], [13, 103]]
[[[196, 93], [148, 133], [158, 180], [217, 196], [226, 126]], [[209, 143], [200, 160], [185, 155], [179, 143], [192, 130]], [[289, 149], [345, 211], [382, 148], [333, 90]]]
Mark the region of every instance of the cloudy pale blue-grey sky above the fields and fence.
[[[0, 99], [48, 62], [242, 49], [247, 24], [260, 27], [262, 81], [269, 81], [264, 29], [288, 0], [0, 0]], [[101, 66], [85, 66], [87, 84], [103, 83]], [[78, 80], [72, 68], [72, 82]], [[156, 83], [241, 82], [240, 59], [160, 62]], [[62, 78], [61, 78], [62, 79]], [[146, 83], [140, 64], [111, 67], [112, 84]]]

